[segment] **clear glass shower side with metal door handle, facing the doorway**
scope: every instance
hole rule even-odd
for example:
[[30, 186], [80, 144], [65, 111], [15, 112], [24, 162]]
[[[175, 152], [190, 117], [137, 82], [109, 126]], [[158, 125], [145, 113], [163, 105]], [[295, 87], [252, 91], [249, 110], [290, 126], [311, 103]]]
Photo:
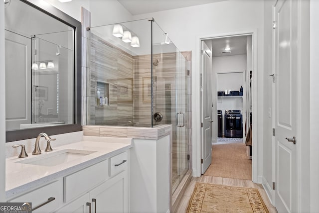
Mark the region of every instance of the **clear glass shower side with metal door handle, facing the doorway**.
[[[189, 168], [186, 59], [156, 22], [152, 36], [153, 126], [172, 124], [171, 192], [174, 193]], [[156, 116], [157, 113], [160, 115]]]

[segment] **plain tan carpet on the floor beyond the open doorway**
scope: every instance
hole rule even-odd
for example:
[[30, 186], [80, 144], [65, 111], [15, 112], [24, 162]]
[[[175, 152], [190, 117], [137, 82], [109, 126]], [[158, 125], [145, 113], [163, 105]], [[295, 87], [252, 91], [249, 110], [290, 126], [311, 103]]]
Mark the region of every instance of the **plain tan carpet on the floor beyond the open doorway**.
[[204, 175], [242, 180], [252, 179], [252, 160], [244, 143], [214, 144], [212, 162]]

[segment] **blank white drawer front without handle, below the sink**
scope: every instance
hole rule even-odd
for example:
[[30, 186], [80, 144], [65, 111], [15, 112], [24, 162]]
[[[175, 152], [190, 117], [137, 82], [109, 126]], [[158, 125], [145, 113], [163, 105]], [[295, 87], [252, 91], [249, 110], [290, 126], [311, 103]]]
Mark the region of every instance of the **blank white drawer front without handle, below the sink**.
[[94, 186], [102, 183], [109, 178], [108, 160], [101, 161], [90, 167], [82, 169], [76, 173], [63, 178], [63, 201], [69, 202], [82, 193], [87, 192]]

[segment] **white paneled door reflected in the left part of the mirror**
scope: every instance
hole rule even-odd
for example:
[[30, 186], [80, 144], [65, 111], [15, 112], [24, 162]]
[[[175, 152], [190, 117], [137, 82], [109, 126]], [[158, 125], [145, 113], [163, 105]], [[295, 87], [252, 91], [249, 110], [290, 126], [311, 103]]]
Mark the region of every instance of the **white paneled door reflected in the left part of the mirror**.
[[[31, 123], [31, 38], [5, 30], [5, 125]], [[14, 106], [14, 107], [12, 107]]]

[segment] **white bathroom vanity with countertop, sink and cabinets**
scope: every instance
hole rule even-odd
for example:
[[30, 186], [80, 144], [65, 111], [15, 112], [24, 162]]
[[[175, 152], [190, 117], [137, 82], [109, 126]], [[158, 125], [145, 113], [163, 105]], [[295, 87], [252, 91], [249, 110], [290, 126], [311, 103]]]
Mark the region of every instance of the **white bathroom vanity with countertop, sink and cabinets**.
[[129, 138], [83, 136], [52, 152], [7, 158], [7, 202], [32, 203], [34, 212], [129, 212], [131, 147]]

